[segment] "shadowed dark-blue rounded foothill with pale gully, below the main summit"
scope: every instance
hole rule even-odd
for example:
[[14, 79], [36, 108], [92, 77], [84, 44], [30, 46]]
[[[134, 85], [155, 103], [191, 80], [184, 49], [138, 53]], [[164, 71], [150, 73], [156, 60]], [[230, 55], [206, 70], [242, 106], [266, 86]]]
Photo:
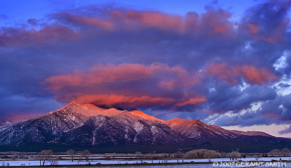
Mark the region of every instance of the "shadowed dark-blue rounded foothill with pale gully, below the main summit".
[[64, 145], [121, 145], [133, 142], [135, 131], [113, 119], [96, 115], [76, 125], [61, 137]]

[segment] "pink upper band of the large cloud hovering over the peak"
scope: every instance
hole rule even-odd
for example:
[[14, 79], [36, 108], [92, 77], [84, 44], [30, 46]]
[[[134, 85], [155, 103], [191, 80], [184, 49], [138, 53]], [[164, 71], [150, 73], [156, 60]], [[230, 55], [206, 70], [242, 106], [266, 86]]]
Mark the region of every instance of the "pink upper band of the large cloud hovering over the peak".
[[[98, 65], [91, 68], [89, 73], [75, 70], [69, 75], [52, 76], [46, 79], [46, 83], [50, 85], [51, 90], [58, 91], [68, 86], [86, 87], [134, 81], [147, 82], [150, 78], [158, 82], [155, 84], [167, 88], [177, 85], [194, 86], [201, 82], [198, 75], [192, 75], [178, 66], [169, 67], [161, 63], [154, 63], [149, 66], [125, 63], [120, 65]], [[170, 81], [168, 81], [169, 79]]]

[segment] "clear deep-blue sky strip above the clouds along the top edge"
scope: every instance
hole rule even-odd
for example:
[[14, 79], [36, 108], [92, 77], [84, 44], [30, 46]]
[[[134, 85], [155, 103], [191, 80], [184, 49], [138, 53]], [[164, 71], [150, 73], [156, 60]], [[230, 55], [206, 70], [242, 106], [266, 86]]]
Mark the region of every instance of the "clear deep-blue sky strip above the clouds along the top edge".
[[[0, 11], [1, 15], [5, 15], [9, 20], [0, 20], [2, 25], [19, 24], [30, 18], [41, 19], [46, 14], [68, 9], [68, 8], [78, 8], [88, 5], [96, 4], [115, 4], [121, 7], [128, 7], [137, 10], [157, 10], [165, 13], [172, 13], [176, 15], [185, 15], [189, 11], [195, 11], [197, 13], [202, 13], [205, 11], [205, 6], [210, 5], [213, 1], [37, 1], [37, 0], [27, 0], [27, 1], [0, 1]], [[218, 1], [219, 6], [230, 9], [234, 14], [234, 18], [239, 18], [246, 9], [263, 1], [231, 1], [224, 0]]]

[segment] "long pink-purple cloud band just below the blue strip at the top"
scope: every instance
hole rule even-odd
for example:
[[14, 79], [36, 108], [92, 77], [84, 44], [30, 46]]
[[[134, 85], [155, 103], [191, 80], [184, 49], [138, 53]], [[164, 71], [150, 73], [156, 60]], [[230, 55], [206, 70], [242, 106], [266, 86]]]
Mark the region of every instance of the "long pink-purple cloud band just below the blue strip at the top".
[[192, 34], [194, 36], [206, 35], [233, 37], [234, 27], [231, 13], [219, 9], [209, 10], [201, 16], [189, 12], [185, 17], [167, 14], [160, 11], [112, 9], [98, 11], [98, 17], [83, 17], [70, 13], [52, 14], [51, 18], [77, 27], [92, 26], [108, 31], [139, 31], [160, 29], [180, 35]]

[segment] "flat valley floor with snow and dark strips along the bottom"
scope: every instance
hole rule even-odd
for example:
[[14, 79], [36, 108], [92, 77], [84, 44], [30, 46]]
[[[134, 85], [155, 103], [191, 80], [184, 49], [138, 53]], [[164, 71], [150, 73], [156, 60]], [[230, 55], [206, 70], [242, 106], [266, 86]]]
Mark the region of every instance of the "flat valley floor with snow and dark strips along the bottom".
[[[268, 162], [273, 161], [279, 164], [279, 160], [285, 162], [286, 167], [291, 167], [291, 157], [246, 157], [241, 158], [241, 161], [251, 162], [262, 162], [261, 166], [257, 167], [270, 167]], [[274, 161], [277, 160], [277, 161]], [[73, 162], [70, 160], [56, 160], [54, 162], [46, 161], [45, 166], [50, 167], [116, 167], [116, 166], [125, 166], [125, 167], [136, 167], [142, 166], [142, 168], [159, 168], [159, 167], [250, 167], [242, 166], [243, 164], [236, 164], [237, 161], [231, 161], [228, 158], [213, 158], [213, 159], [168, 159], [168, 160], [130, 160], [129, 158], [116, 158], [114, 160], [93, 160], [93, 161], [76, 161]], [[214, 165], [218, 163], [217, 165]], [[225, 164], [223, 164], [225, 163]], [[36, 167], [39, 166], [39, 160], [27, 160], [27, 159], [10, 159], [4, 160], [0, 159], [0, 166], [5, 167]], [[269, 165], [269, 166], [267, 166]], [[273, 164], [274, 165], [274, 164]], [[283, 165], [284, 166], [284, 165]], [[280, 167], [280, 165], [279, 165]]]

